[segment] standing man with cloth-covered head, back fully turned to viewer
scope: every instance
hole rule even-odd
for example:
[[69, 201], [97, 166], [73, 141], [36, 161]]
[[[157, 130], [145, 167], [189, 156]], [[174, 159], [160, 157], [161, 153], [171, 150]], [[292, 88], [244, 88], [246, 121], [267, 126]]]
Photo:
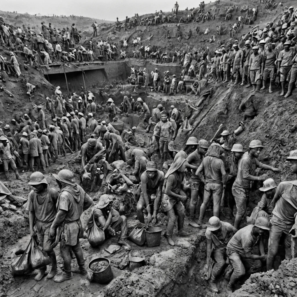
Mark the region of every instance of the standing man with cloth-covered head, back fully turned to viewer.
[[[204, 183], [203, 203], [200, 207], [200, 215], [198, 220], [198, 225], [200, 226], [203, 223], [204, 213], [211, 195], [213, 197], [214, 203], [214, 216], [219, 217], [220, 214], [222, 193], [226, 188], [228, 176], [225, 171], [224, 162], [222, 159], [220, 159], [221, 151], [222, 147], [218, 143], [211, 143], [208, 149], [208, 156], [202, 160], [195, 173]], [[201, 174], [203, 171], [205, 178]]]

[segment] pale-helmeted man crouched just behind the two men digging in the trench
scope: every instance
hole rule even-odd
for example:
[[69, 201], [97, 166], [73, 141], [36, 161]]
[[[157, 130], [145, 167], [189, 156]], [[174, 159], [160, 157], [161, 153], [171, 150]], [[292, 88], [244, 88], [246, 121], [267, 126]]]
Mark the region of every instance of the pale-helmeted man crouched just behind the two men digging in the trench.
[[248, 224], [254, 224], [258, 217], [267, 217], [270, 219], [272, 214], [274, 204], [272, 204], [272, 199], [275, 195], [275, 189], [277, 184], [273, 178], [267, 178], [263, 181], [263, 187], [259, 188], [259, 191], [263, 192], [261, 200], [258, 202], [257, 206], [253, 209], [250, 217], [247, 217]]

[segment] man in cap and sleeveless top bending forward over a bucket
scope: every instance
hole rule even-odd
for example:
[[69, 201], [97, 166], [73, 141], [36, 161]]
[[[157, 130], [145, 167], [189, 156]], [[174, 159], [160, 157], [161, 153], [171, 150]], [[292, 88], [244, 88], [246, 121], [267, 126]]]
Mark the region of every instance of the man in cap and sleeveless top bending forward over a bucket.
[[141, 194], [136, 207], [137, 218], [139, 222], [144, 223], [143, 208], [145, 207], [148, 212], [148, 222], [152, 221], [154, 224], [157, 222], [164, 173], [158, 170], [156, 162], [150, 161], [146, 164], [146, 171], [142, 173], [140, 181]]

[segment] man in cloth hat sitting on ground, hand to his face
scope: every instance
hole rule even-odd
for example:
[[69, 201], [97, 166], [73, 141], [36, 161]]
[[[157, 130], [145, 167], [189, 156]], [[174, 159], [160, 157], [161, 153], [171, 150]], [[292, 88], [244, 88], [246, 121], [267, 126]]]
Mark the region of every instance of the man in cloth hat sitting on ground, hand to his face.
[[120, 216], [119, 212], [113, 209], [112, 206], [112, 197], [103, 194], [91, 211], [87, 232], [92, 228], [94, 222], [104, 231], [105, 238], [114, 237], [116, 236], [116, 232], [121, 231], [118, 244], [124, 246], [124, 249], [131, 249], [130, 245], [127, 243], [127, 217]]

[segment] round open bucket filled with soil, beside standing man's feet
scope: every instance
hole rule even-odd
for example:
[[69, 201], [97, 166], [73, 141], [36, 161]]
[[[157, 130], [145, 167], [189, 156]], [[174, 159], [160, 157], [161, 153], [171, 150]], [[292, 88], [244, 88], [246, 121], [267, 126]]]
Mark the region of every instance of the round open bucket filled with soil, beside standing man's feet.
[[96, 258], [92, 260], [88, 268], [93, 273], [92, 280], [99, 284], [108, 284], [113, 279], [110, 261], [107, 258]]

